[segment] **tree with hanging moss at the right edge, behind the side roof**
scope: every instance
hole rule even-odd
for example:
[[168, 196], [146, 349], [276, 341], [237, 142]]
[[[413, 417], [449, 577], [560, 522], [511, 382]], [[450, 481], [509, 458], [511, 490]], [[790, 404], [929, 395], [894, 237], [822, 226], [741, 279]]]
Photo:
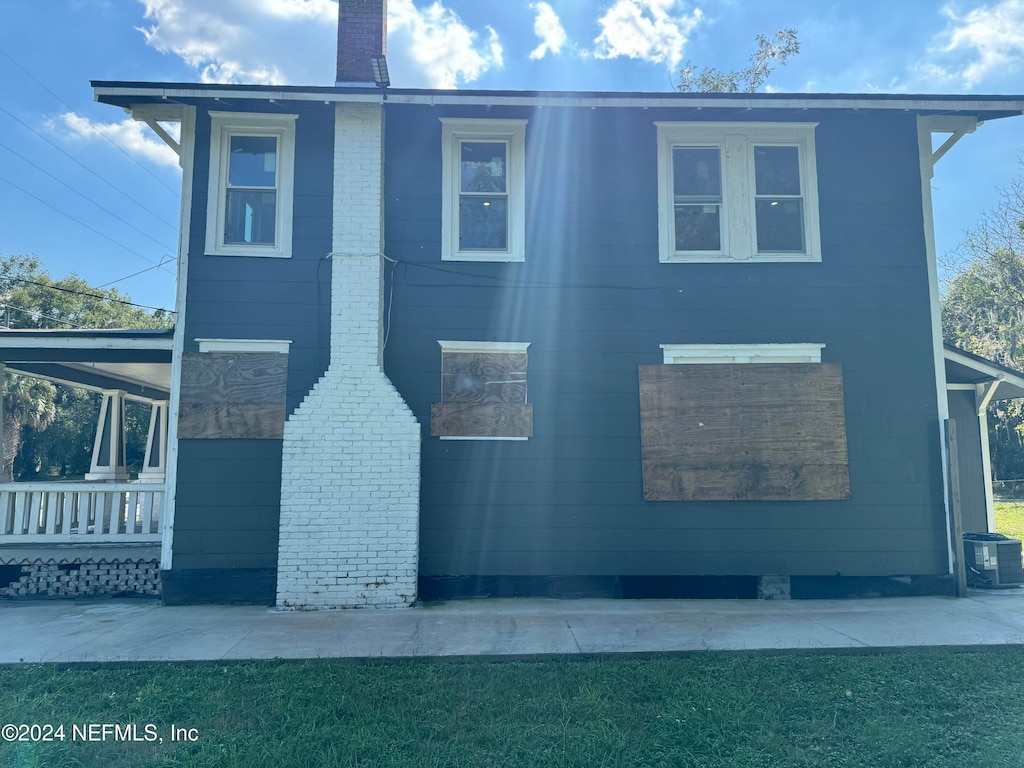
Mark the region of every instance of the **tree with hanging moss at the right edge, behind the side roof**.
[[[943, 264], [942, 335], [961, 349], [1024, 370], [1024, 175], [1002, 190]], [[1019, 400], [989, 407], [992, 471], [1024, 477], [1024, 408]]]

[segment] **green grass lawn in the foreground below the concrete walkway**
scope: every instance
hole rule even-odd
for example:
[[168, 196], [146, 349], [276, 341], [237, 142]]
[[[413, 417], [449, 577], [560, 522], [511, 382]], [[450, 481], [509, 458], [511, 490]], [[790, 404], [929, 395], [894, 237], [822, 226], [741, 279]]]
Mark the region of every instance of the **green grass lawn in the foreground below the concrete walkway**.
[[[1024, 648], [0, 668], [0, 766], [1024, 764]], [[153, 724], [164, 742], [72, 740]], [[171, 724], [196, 741], [171, 742]]]

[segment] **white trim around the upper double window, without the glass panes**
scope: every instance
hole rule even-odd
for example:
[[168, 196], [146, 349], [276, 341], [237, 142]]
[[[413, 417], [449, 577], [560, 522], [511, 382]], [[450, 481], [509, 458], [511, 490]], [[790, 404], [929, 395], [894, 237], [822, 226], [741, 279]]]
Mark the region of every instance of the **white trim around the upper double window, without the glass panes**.
[[[817, 123], [677, 123], [657, 128], [658, 260], [662, 263], [744, 263], [821, 261], [818, 223]], [[778, 144], [800, 150], [804, 201], [804, 253], [758, 253], [755, 226], [754, 146]], [[718, 146], [722, 153], [722, 250], [675, 250], [672, 147]]]

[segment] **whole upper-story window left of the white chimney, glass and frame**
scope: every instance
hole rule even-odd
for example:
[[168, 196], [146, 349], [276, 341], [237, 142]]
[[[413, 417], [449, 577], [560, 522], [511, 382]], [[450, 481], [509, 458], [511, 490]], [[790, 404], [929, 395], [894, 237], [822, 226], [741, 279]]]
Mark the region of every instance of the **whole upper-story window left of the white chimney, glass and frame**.
[[210, 113], [208, 254], [292, 255], [296, 117]]

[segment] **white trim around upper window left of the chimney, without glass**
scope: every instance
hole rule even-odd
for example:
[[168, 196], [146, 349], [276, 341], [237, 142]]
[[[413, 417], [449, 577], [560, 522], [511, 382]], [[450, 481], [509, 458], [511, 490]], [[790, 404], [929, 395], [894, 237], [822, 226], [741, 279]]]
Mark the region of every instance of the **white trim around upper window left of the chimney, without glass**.
[[[298, 115], [265, 115], [258, 113], [210, 113], [210, 177], [207, 190], [206, 253], [211, 256], [268, 256], [290, 258], [292, 255], [292, 212], [295, 180], [295, 121]], [[274, 136], [278, 139], [278, 210], [274, 226], [275, 244], [226, 245], [227, 164], [231, 136]]]

